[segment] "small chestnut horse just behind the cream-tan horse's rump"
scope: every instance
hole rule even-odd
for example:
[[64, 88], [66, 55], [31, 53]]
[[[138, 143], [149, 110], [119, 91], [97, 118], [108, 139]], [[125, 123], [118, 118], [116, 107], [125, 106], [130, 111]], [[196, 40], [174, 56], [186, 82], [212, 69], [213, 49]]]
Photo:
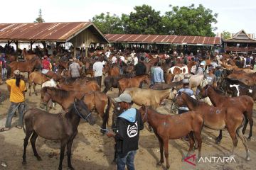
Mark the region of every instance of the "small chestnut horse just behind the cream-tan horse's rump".
[[140, 84], [146, 82], [146, 84], [150, 84], [149, 75], [136, 76], [132, 78], [123, 78], [118, 81], [118, 89], [119, 94], [122, 94], [126, 88], [130, 87], [139, 87]]

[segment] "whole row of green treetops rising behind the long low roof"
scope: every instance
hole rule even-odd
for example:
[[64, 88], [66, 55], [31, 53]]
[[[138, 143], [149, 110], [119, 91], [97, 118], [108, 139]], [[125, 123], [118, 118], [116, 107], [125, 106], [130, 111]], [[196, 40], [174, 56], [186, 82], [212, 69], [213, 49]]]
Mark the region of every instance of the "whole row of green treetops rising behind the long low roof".
[[200, 35], [215, 36], [217, 28], [217, 13], [199, 5], [171, 6], [164, 16], [151, 6], [135, 6], [134, 12], [119, 16], [101, 13], [92, 18], [92, 22], [100, 28], [102, 33], [130, 33], [130, 34], [165, 34], [165, 35]]

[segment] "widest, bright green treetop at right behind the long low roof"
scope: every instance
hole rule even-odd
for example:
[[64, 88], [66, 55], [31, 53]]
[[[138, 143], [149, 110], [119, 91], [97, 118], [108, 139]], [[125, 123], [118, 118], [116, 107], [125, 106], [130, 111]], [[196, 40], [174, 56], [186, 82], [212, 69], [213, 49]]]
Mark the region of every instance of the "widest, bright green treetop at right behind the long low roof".
[[217, 23], [218, 13], [214, 13], [209, 8], [199, 5], [195, 8], [191, 6], [171, 6], [171, 11], [165, 13], [161, 19], [163, 24], [162, 33], [169, 35], [198, 35], [215, 36], [213, 33], [217, 28], [212, 27], [212, 23]]

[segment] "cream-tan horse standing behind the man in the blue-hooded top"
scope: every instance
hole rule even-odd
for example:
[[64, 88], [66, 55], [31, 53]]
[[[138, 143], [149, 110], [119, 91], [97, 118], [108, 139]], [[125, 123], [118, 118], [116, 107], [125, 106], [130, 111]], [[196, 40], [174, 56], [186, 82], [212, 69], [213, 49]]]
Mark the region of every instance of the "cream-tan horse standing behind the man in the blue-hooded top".
[[173, 99], [177, 91], [175, 89], [152, 90], [132, 87], [125, 89], [123, 93], [132, 96], [132, 101], [138, 106], [145, 105], [156, 109], [165, 98]]

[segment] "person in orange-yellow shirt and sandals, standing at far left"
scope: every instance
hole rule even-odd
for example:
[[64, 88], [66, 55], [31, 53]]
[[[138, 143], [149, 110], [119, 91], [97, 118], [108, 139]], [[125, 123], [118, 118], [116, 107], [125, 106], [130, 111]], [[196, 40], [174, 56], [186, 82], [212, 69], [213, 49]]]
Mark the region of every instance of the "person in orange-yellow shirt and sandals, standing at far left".
[[26, 84], [21, 79], [21, 72], [19, 70], [14, 71], [14, 79], [6, 80], [8, 90], [10, 91], [11, 106], [7, 113], [5, 128], [1, 128], [0, 131], [10, 130], [11, 119], [14, 117], [14, 113], [18, 109], [18, 125], [16, 128], [21, 129], [23, 125], [23, 110], [25, 107], [25, 92]]

